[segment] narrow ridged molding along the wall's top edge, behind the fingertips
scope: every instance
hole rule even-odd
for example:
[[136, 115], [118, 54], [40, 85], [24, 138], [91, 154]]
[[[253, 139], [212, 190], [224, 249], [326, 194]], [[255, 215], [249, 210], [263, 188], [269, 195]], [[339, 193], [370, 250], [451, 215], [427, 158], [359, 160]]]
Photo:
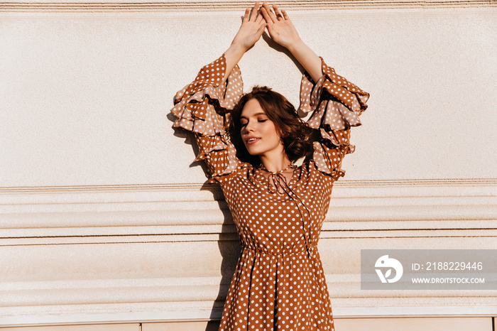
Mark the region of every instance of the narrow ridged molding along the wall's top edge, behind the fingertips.
[[[437, 9], [496, 7], [494, 0], [405, 0], [405, 1], [279, 1], [278, 5], [289, 10], [337, 9]], [[133, 12], [133, 11], [239, 11], [253, 6], [251, 1], [6, 1], [0, 11], [34, 12]]]

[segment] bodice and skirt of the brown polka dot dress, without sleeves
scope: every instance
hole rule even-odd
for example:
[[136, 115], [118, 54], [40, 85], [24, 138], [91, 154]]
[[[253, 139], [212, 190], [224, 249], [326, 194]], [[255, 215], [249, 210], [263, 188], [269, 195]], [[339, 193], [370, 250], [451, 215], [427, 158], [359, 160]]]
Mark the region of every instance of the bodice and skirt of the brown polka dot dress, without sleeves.
[[317, 251], [333, 181], [307, 162], [283, 194], [248, 163], [222, 182], [243, 250], [220, 331], [334, 330]]

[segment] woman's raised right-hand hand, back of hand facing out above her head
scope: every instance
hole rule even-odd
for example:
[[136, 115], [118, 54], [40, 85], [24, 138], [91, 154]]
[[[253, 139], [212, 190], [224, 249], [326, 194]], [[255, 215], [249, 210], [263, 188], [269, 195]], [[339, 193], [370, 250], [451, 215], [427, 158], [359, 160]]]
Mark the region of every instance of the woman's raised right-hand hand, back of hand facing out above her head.
[[286, 11], [280, 11], [276, 5], [273, 5], [273, 10], [271, 10], [270, 6], [264, 2], [261, 13], [266, 20], [269, 36], [276, 43], [290, 50], [293, 45], [302, 41]]

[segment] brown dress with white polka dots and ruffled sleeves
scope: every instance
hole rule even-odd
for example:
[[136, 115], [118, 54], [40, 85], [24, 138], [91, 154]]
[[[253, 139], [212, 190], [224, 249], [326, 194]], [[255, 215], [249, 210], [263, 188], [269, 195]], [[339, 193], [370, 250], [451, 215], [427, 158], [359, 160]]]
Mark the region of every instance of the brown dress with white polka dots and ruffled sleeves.
[[221, 185], [241, 241], [219, 330], [334, 330], [317, 242], [334, 180], [344, 175], [342, 158], [354, 151], [349, 129], [361, 125], [369, 94], [324, 61], [320, 80], [302, 77], [300, 109], [313, 112], [308, 125], [322, 138], [278, 192], [278, 173], [268, 180], [236, 158], [225, 114], [240, 99], [243, 82], [236, 66], [222, 83], [225, 70], [224, 55], [202, 67], [172, 109], [174, 126], [195, 133], [197, 160], [209, 165], [209, 183]]

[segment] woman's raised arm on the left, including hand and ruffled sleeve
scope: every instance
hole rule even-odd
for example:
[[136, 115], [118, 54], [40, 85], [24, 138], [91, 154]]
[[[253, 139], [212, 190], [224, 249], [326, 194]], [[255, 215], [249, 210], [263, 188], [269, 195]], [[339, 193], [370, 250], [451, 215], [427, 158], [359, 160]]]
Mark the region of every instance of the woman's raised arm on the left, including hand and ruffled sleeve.
[[209, 166], [209, 183], [229, 178], [239, 168], [236, 150], [226, 132], [226, 112], [233, 109], [243, 93], [239, 67], [236, 65], [266, 28], [257, 15], [259, 4], [245, 11], [244, 20], [226, 52], [202, 67], [195, 80], [175, 96], [175, 127], [195, 134], [199, 153], [197, 160]]

